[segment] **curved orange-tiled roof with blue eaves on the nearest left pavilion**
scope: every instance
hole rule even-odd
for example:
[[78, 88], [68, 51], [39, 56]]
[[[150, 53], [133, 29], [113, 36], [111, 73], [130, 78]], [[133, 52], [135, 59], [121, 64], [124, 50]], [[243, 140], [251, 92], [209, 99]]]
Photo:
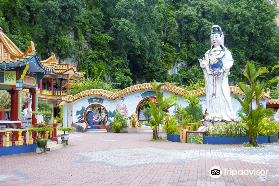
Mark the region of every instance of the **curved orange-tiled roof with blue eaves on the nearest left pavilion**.
[[47, 60], [40, 60], [32, 41], [30, 41], [29, 47], [23, 53], [6, 34], [2, 32], [2, 28], [0, 27], [0, 67], [10, 68], [29, 63], [32, 64], [32, 62], [34, 65], [31, 65], [33, 68], [28, 69], [30, 72], [50, 72], [53, 71], [58, 64], [54, 53], [51, 53], [51, 56]]

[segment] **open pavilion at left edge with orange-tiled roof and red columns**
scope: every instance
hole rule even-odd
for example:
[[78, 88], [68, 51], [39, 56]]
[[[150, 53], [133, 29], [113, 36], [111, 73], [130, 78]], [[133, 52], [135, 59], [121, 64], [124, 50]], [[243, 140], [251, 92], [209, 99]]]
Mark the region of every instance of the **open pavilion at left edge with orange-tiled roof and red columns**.
[[[14, 128], [22, 127], [21, 101], [23, 90], [30, 95], [28, 110], [36, 111], [38, 102], [38, 83], [42, 82], [44, 76], [53, 73], [58, 65], [55, 54], [46, 60], [41, 60], [35, 50], [35, 45], [30, 45], [25, 52], [18, 47], [2, 32], [0, 27], [0, 89], [7, 90], [11, 94], [10, 116], [4, 120], [4, 114], [0, 114], [0, 127]], [[40, 93], [42, 88], [40, 87]], [[3, 109], [2, 109], [3, 110]], [[2, 111], [1, 110], [1, 111]], [[3, 111], [2, 111], [3, 112]], [[32, 114], [32, 125], [37, 126], [36, 115]]]

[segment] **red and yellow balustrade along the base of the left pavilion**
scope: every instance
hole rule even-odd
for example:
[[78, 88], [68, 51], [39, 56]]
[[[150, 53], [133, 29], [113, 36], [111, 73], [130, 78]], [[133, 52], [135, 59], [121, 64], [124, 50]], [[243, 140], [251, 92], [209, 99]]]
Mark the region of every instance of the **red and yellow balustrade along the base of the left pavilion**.
[[[32, 137], [32, 128], [40, 127], [0, 129], [0, 147], [16, 146], [16, 144], [17, 146], [37, 144], [37, 133], [34, 133]], [[28, 139], [26, 137], [27, 131]], [[23, 141], [21, 141], [22, 135]], [[3, 142], [4, 137], [6, 137], [6, 140]]]

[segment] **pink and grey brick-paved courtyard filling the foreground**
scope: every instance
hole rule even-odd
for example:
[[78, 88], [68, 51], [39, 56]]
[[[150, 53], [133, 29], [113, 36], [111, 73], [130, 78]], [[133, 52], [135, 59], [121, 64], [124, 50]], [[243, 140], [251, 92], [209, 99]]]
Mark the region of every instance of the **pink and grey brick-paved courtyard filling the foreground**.
[[[72, 133], [62, 149], [0, 157], [0, 185], [279, 185], [279, 143], [245, 148], [150, 141], [151, 137], [150, 129], [133, 134]], [[212, 166], [269, 171], [213, 179]]]

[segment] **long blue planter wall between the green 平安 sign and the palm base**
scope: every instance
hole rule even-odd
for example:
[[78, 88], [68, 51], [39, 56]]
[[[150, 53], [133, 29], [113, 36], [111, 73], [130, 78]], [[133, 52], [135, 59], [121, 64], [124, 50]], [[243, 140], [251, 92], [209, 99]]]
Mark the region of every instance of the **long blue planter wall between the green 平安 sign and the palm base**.
[[245, 137], [204, 136], [204, 144], [243, 144], [243, 142], [249, 142], [249, 136], [245, 136]]

